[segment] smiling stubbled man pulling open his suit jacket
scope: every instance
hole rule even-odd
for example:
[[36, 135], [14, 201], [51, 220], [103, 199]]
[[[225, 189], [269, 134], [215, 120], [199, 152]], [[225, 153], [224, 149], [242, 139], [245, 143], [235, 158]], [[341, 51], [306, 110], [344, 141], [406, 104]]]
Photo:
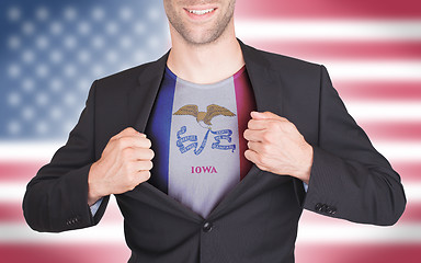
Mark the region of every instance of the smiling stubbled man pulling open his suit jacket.
[[398, 220], [400, 178], [325, 67], [239, 42], [235, 0], [163, 2], [171, 50], [93, 83], [27, 186], [33, 229], [96, 225], [114, 194], [129, 262], [294, 262], [303, 208]]

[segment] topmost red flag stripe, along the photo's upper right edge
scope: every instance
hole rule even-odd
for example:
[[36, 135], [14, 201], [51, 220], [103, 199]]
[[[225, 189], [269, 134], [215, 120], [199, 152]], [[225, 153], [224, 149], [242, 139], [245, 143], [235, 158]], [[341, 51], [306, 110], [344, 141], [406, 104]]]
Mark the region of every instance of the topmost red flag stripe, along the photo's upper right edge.
[[244, 19], [419, 19], [419, 0], [248, 0], [237, 1], [236, 16]]

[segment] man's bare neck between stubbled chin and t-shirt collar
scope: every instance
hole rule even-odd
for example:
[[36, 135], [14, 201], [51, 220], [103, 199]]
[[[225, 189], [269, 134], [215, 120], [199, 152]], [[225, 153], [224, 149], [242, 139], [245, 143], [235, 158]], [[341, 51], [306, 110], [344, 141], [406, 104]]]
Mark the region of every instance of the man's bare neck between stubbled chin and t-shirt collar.
[[187, 44], [172, 34], [167, 65], [181, 79], [194, 83], [214, 83], [231, 77], [244, 65], [244, 60], [234, 32], [204, 45]]

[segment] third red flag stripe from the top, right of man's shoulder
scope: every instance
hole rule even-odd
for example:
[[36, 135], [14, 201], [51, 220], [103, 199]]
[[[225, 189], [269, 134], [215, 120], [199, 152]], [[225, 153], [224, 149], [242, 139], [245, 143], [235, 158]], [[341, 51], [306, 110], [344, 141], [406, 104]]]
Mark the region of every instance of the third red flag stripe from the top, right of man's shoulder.
[[343, 100], [421, 100], [421, 82], [364, 82], [364, 81], [335, 81], [334, 88]]

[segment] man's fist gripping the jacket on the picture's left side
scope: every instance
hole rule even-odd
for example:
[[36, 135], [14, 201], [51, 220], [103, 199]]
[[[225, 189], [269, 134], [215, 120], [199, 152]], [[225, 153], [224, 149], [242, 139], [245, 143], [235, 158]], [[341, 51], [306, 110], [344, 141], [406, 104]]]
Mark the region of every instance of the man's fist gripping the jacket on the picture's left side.
[[110, 194], [122, 194], [150, 178], [153, 151], [146, 135], [126, 128], [113, 136], [88, 175], [88, 204]]

